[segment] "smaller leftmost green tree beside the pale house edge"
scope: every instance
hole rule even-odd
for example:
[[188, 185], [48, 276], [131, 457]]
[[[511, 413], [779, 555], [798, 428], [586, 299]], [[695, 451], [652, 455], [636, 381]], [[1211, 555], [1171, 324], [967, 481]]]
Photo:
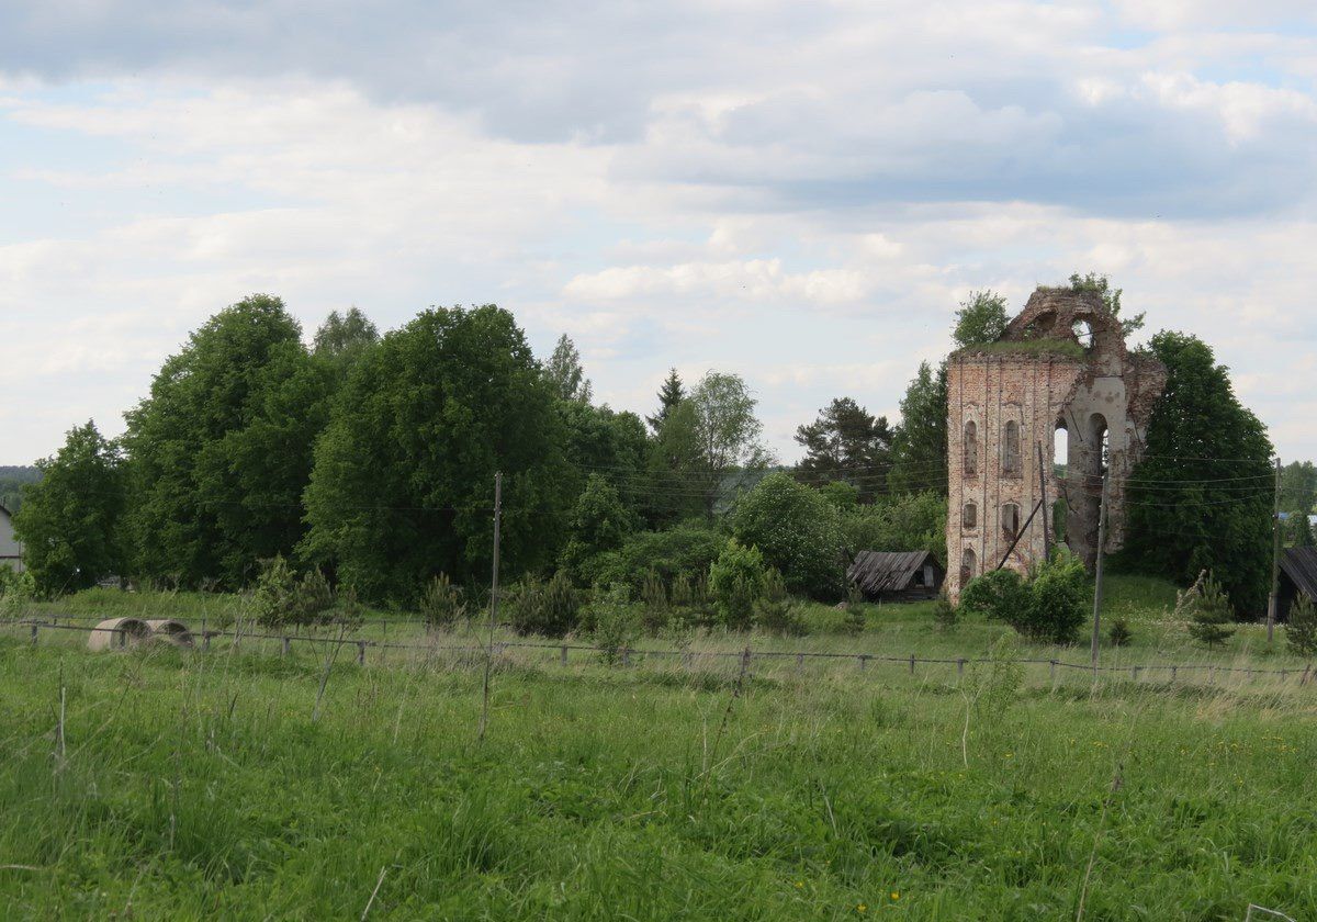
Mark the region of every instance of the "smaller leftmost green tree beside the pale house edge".
[[37, 468], [41, 481], [24, 487], [13, 522], [37, 589], [53, 595], [121, 573], [124, 470], [115, 444], [88, 421]]

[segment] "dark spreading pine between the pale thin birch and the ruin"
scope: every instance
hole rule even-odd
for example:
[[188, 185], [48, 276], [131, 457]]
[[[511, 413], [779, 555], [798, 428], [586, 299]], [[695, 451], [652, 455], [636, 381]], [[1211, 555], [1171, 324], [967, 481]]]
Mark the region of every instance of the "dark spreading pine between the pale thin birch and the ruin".
[[795, 429], [795, 441], [805, 448], [795, 466], [802, 482], [822, 486], [846, 481], [859, 489], [861, 502], [885, 491], [892, 454], [886, 416], [873, 416], [853, 399], [839, 396], [819, 411], [818, 419]]

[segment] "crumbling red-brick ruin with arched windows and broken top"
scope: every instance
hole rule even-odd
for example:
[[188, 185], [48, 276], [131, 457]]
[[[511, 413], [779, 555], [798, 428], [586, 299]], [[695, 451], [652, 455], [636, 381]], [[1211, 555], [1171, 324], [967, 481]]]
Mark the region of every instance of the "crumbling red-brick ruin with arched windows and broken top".
[[947, 364], [951, 598], [1004, 560], [1027, 570], [1044, 555], [1044, 527], [1060, 520], [1063, 540], [1092, 568], [1104, 473], [1106, 552], [1117, 551], [1126, 478], [1164, 386], [1162, 364], [1130, 354], [1121, 321], [1090, 291], [1040, 287], [997, 342], [955, 353]]

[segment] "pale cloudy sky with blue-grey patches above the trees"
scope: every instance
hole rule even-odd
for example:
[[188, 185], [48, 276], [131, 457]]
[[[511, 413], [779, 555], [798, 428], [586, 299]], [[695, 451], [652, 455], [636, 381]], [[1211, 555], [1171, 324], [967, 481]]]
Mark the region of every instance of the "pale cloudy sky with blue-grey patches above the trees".
[[252, 292], [741, 375], [784, 461], [957, 303], [1098, 271], [1317, 458], [1317, 8], [0, 0], [0, 464], [107, 435]]

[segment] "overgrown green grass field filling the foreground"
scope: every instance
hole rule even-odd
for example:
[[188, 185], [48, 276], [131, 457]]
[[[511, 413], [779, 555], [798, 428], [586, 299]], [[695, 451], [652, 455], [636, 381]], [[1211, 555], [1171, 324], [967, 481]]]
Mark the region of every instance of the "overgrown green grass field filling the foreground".
[[[1260, 628], [1188, 648], [1166, 591], [1114, 587], [1135, 645], [1104, 657], [1291, 663]], [[166, 606], [92, 607], [125, 598]], [[751, 645], [975, 657], [1009, 634], [921, 606], [871, 610], [860, 637], [830, 616]], [[94, 655], [49, 634], [0, 630], [5, 918], [1051, 919], [1081, 898], [1085, 919], [1317, 917], [1317, 684], [1297, 674], [740, 677], [511, 651], [478, 743], [478, 657], [345, 652], [313, 717], [324, 648]]]

